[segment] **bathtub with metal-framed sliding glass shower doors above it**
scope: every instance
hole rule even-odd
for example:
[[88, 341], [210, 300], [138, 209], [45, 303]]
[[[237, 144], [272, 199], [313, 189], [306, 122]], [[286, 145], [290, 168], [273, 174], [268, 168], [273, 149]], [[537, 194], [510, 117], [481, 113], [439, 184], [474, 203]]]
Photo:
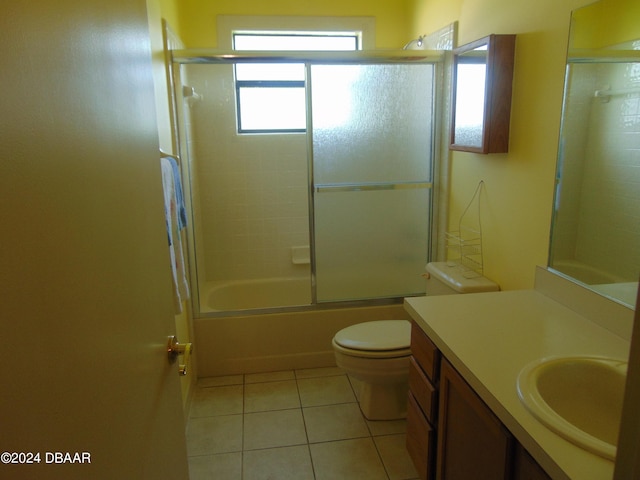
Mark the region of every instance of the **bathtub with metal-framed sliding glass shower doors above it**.
[[[191, 270], [199, 280], [194, 282], [199, 376], [335, 365], [335, 332], [364, 321], [408, 319], [402, 297], [424, 292], [420, 273], [432, 236], [433, 119], [440, 107], [435, 91], [442, 52], [358, 52], [352, 58], [342, 53], [335, 60], [323, 52], [294, 58], [313, 78], [306, 101], [315, 108], [307, 109], [312, 118], [305, 137], [287, 137], [303, 141], [302, 153], [300, 142], [295, 153], [288, 153], [280, 148], [284, 137], [239, 135], [235, 102], [229, 101], [235, 91], [218, 92], [233, 86], [230, 62], [255, 61], [253, 53], [235, 52], [229, 60], [218, 53], [173, 52], [174, 65], [180, 65], [174, 71], [184, 71], [185, 80], [189, 77], [203, 92], [193, 109], [190, 104], [177, 109], [196, 120], [183, 117], [179, 123], [186, 132], [181, 141], [189, 142], [188, 148], [181, 146], [188, 152], [182, 156], [182, 168], [188, 169], [184, 177], [195, 182], [186, 195], [194, 222], [201, 222], [196, 229], [189, 226]], [[281, 61], [268, 54], [259, 57], [260, 62]], [[202, 74], [204, 64], [215, 75]], [[351, 97], [347, 101], [336, 92]], [[213, 120], [203, 117], [212, 111], [218, 122], [213, 129]], [[347, 123], [356, 119], [372, 123], [357, 128]], [[390, 132], [390, 125], [398, 132]], [[304, 162], [303, 175], [290, 163], [298, 158]], [[262, 165], [268, 168], [261, 170]], [[288, 173], [273, 181], [277, 168]], [[279, 188], [285, 180], [300, 185]], [[304, 193], [301, 203], [294, 204], [283, 191]], [[273, 211], [267, 202], [274, 200], [287, 207], [287, 215]], [[236, 203], [223, 208], [222, 201]], [[268, 218], [258, 217], [262, 210]], [[294, 221], [309, 231], [300, 232]], [[236, 227], [242, 229], [235, 232]], [[284, 232], [299, 236], [283, 238]], [[285, 268], [280, 251], [267, 251], [305, 241], [312, 252], [310, 267], [296, 257]], [[251, 275], [274, 274], [236, 280], [247, 269]], [[303, 269], [308, 276], [297, 277]], [[218, 280], [225, 276], [233, 280]]]

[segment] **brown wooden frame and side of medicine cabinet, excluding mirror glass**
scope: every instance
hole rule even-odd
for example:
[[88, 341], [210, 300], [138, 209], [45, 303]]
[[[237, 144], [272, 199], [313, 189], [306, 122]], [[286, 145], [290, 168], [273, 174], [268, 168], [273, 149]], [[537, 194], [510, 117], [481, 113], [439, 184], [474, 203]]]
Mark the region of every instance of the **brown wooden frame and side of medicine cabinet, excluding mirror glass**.
[[[456, 97], [460, 58], [478, 47], [487, 47], [487, 70], [484, 92], [484, 118], [481, 145], [465, 145], [456, 141]], [[511, 92], [515, 60], [515, 35], [489, 35], [454, 49], [453, 89], [451, 102], [451, 141], [449, 149], [474, 153], [506, 153], [509, 151]]]

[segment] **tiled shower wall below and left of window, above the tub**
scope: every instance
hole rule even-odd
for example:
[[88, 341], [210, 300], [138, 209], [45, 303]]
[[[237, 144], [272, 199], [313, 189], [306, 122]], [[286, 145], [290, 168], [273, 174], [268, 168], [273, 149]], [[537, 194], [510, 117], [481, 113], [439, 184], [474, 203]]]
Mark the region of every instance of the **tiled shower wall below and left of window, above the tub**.
[[309, 245], [304, 134], [238, 135], [232, 67], [191, 65], [201, 282], [309, 274], [291, 248]]

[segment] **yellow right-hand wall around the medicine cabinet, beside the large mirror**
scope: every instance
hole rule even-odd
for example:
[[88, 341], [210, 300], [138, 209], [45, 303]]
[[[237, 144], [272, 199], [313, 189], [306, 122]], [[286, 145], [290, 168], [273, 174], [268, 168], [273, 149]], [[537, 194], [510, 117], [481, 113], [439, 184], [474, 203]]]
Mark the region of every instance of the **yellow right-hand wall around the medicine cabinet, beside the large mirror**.
[[459, 21], [459, 44], [517, 37], [508, 154], [454, 152], [452, 230], [480, 180], [485, 274], [505, 290], [531, 288], [546, 265], [571, 10], [591, 0], [414, 0], [413, 33]]

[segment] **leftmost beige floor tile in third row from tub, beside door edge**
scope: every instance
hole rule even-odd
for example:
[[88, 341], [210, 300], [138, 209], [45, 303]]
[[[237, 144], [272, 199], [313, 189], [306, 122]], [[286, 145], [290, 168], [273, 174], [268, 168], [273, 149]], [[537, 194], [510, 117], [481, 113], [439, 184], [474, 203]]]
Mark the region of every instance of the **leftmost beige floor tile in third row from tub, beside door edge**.
[[187, 428], [187, 452], [193, 455], [240, 452], [242, 415], [191, 418]]

